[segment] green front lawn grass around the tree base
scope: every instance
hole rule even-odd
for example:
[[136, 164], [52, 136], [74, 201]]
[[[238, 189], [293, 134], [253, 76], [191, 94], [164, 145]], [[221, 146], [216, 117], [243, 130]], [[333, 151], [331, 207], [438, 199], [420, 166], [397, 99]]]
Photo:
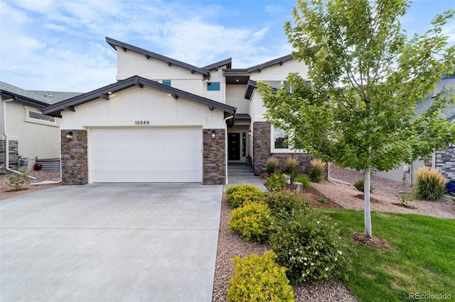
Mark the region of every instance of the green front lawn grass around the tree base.
[[376, 250], [350, 240], [363, 233], [363, 211], [318, 211], [338, 223], [348, 243], [352, 271], [346, 286], [358, 301], [409, 301], [410, 293], [447, 293], [455, 300], [455, 220], [373, 212], [373, 235], [392, 245]]

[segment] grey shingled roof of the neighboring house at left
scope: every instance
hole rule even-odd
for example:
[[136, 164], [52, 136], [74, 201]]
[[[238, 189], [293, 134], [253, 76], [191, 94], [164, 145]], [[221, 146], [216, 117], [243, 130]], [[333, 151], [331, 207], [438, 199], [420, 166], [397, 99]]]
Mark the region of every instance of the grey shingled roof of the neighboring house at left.
[[26, 90], [5, 82], [0, 82], [0, 91], [2, 96], [21, 101], [24, 104], [37, 106], [38, 108], [55, 104], [80, 94], [80, 92]]

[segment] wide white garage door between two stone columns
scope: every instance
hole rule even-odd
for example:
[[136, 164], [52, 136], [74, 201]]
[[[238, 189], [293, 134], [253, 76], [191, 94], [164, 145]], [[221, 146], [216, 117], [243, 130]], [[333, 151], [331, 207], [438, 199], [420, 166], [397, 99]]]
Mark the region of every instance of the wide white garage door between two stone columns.
[[202, 182], [201, 128], [92, 128], [93, 182]]

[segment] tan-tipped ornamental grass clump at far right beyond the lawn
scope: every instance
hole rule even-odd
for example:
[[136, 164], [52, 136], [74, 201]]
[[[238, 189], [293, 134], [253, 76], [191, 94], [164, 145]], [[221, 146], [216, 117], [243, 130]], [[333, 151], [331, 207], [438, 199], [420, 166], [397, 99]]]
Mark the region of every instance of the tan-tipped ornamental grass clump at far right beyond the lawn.
[[446, 179], [437, 169], [421, 167], [415, 173], [416, 194], [419, 198], [437, 201], [444, 196]]

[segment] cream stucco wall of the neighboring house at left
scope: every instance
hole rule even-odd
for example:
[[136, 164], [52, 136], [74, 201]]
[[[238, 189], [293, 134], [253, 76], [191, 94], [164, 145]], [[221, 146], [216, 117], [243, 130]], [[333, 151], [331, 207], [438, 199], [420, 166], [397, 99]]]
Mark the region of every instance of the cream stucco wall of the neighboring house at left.
[[[60, 118], [55, 118], [55, 123], [51, 123], [31, 118], [30, 112], [40, 113], [37, 108], [23, 105], [17, 101], [6, 103], [6, 131], [10, 138], [12, 169], [18, 169], [18, 155], [28, 157], [28, 170], [33, 169], [35, 157], [60, 158]], [[12, 146], [16, 146], [17, 150], [11, 149]], [[4, 147], [0, 150], [0, 152], [2, 151], [4, 152]], [[4, 153], [2, 154], [4, 163]]]

